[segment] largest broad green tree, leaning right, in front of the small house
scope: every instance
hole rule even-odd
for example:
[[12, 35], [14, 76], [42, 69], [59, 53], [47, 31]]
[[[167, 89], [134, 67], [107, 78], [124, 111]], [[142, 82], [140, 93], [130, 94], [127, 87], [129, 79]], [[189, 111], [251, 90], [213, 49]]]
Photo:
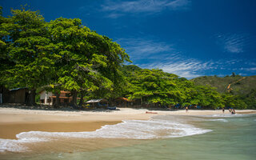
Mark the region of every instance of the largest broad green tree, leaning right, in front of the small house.
[[57, 18], [47, 28], [53, 52], [58, 55], [54, 59], [56, 74], [52, 85], [72, 91], [72, 106], [77, 106], [78, 92], [83, 98], [86, 92], [100, 97], [113, 90], [121, 79], [118, 68], [123, 62], [130, 62], [116, 42], [82, 26], [78, 18]]

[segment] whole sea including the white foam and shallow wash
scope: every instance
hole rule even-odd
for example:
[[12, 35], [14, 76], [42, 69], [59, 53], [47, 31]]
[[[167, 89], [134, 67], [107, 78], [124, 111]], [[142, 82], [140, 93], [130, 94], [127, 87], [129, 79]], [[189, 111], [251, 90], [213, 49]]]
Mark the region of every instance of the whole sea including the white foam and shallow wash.
[[40, 132], [0, 139], [0, 159], [255, 160], [256, 114], [158, 115], [90, 132]]

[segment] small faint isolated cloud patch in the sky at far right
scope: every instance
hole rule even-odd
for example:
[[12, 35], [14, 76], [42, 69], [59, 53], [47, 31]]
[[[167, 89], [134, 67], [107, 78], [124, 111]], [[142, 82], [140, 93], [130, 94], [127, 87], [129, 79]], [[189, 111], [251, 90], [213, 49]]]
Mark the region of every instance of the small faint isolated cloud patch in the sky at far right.
[[226, 52], [242, 53], [245, 46], [250, 43], [250, 37], [246, 34], [217, 34], [217, 44]]

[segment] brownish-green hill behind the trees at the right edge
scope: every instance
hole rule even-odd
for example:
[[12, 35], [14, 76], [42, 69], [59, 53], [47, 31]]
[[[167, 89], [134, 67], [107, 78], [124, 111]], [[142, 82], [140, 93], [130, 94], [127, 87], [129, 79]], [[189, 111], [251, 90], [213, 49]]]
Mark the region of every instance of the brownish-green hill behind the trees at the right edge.
[[240, 75], [231, 75], [224, 78], [217, 76], [203, 76], [191, 79], [195, 85], [210, 85], [216, 87], [218, 92], [230, 94], [250, 94], [256, 90], [256, 76], [242, 77]]

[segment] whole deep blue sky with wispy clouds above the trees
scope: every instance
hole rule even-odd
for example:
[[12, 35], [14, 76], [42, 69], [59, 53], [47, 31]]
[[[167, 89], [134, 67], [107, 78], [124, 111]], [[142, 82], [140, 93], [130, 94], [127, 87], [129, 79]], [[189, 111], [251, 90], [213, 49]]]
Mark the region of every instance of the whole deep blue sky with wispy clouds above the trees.
[[142, 68], [189, 79], [256, 74], [255, 0], [0, 0], [5, 17], [25, 4], [47, 22], [82, 19]]

